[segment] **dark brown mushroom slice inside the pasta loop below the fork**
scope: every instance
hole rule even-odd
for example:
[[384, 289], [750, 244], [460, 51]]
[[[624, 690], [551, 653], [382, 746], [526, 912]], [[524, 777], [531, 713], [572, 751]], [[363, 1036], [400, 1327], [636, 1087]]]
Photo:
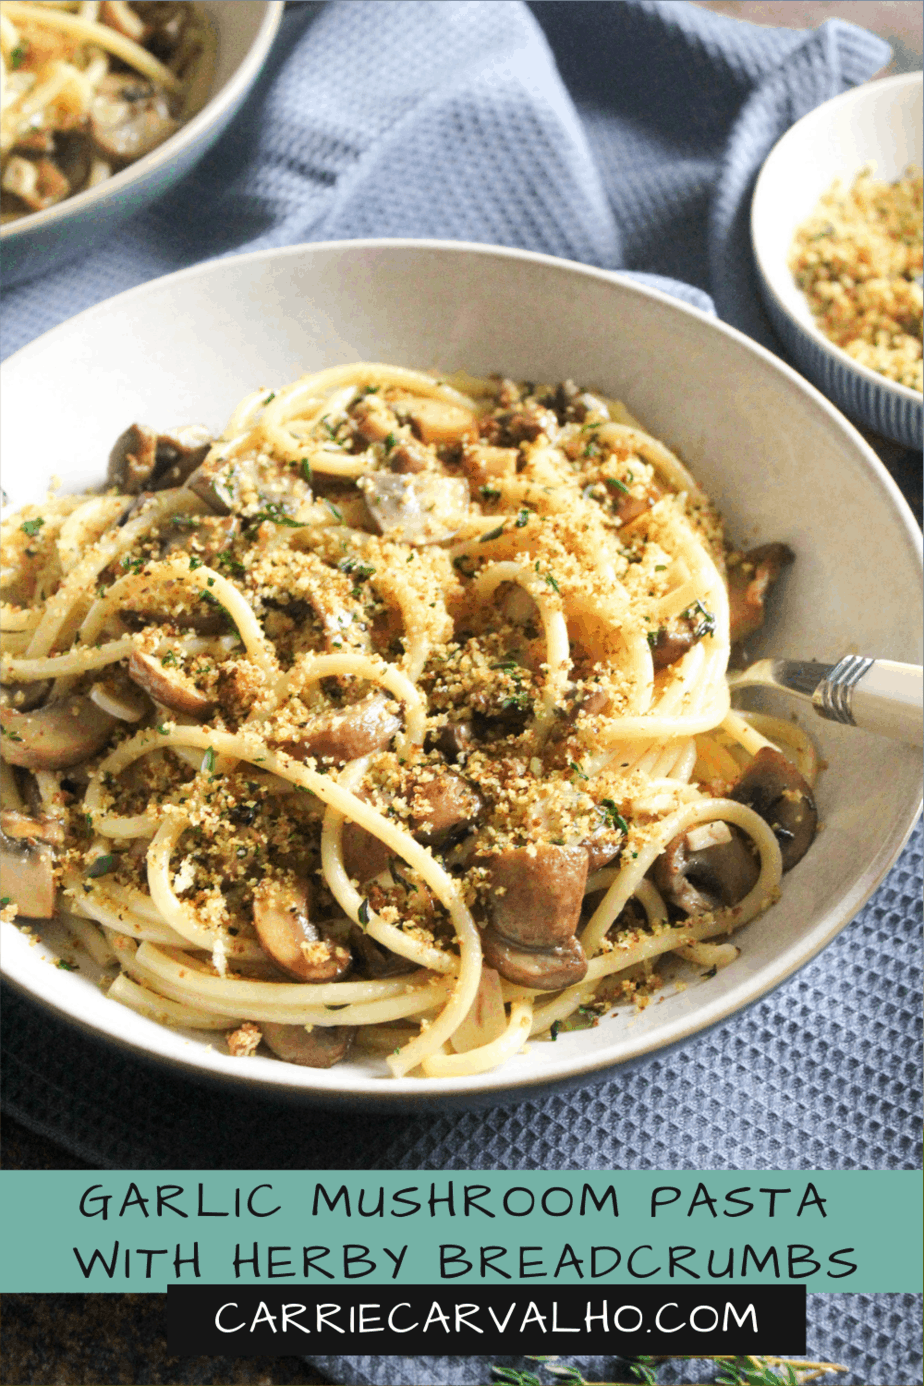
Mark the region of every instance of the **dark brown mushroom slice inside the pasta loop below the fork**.
[[761, 863], [745, 834], [725, 823], [719, 826], [723, 834], [727, 833], [726, 841], [691, 851], [688, 834], [680, 833], [654, 863], [655, 886], [669, 904], [687, 915], [737, 905], [761, 875]]

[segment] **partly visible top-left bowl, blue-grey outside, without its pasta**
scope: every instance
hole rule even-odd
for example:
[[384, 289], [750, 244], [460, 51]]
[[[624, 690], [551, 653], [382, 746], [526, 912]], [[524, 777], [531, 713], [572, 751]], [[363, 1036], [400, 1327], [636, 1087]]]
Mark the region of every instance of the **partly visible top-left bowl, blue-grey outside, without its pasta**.
[[4, 288], [86, 255], [179, 183], [208, 154], [251, 90], [283, 18], [283, 0], [202, 0], [216, 39], [211, 96], [191, 121], [105, 183], [0, 229]]

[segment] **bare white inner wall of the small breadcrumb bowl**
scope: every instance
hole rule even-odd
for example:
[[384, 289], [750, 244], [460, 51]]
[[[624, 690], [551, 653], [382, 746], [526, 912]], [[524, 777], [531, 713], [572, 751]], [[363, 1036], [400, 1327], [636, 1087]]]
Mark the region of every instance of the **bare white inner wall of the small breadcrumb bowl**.
[[[788, 266], [792, 237], [835, 179], [851, 183], [873, 165], [878, 177], [895, 182], [909, 164], [924, 159], [920, 73], [889, 78], [826, 101], [774, 146], [758, 179], [751, 234], [761, 272], [780, 305], [838, 358], [858, 369], [815, 326], [805, 294]], [[862, 369], [862, 367], [860, 367]], [[907, 387], [870, 377], [920, 398]]]

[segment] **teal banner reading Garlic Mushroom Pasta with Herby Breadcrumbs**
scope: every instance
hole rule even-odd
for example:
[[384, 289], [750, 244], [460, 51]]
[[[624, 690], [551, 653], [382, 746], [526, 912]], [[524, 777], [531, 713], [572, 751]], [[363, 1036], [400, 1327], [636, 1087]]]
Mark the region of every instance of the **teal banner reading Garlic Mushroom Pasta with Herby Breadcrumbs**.
[[914, 1171], [4, 1171], [0, 1290], [805, 1285], [918, 1292]]

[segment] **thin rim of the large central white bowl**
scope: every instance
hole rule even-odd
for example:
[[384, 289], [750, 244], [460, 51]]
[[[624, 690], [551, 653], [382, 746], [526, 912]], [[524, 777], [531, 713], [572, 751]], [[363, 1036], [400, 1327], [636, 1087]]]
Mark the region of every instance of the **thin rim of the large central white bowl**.
[[[905, 500], [898, 485], [853, 424], [851, 424], [851, 421], [845, 419], [844, 414], [819, 389], [815, 388], [815, 385], [799, 376], [798, 371], [795, 371], [791, 366], [787, 366], [787, 363], [780, 360], [779, 356], [774, 356], [773, 352], [761, 346], [744, 333], [740, 333], [734, 327], [729, 327], [726, 323], [702, 309], [693, 308], [688, 304], [673, 298], [670, 294], [651, 288], [647, 284], [639, 284], [636, 280], [628, 279], [619, 272], [601, 270], [594, 266], [560, 259], [554, 255], [542, 255], [536, 251], [521, 251], [503, 245], [482, 245], [471, 241], [425, 238], [403, 240], [400, 237], [355, 241], [303, 241], [296, 245], [287, 245], [281, 248], [249, 251], [244, 255], [227, 256], [220, 261], [206, 261], [205, 263], [176, 270], [172, 274], [163, 274], [161, 279], [150, 280], [145, 284], [139, 284], [134, 288], [129, 288], [122, 294], [114, 295], [109, 299], [104, 299], [101, 304], [94, 304], [91, 308], [66, 319], [64, 323], [58, 323], [57, 327], [50, 328], [47, 333], [43, 333], [42, 337], [37, 337], [35, 341], [19, 348], [18, 352], [7, 358], [4, 366], [12, 362], [28, 360], [33, 351], [40, 349], [42, 342], [44, 342], [47, 337], [69, 328], [73, 323], [86, 323], [91, 322], [96, 316], [104, 316], [111, 309], [112, 304], [123, 304], [132, 298], [141, 299], [148, 294], [161, 292], [165, 286], [181, 283], [195, 274], [224, 274], [238, 262], [254, 263], [262, 259], [283, 259], [316, 251], [362, 252], [370, 249], [399, 248], [528, 261], [551, 269], [564, 270], [568, 274], [582, 274], [586, 279], [596, 279], [603, 283], [616, 281], [630, 294], [634, 294], [639, 298], [655, 299], [679, 313], [698, 319], [713, 331], [718, 331], [737, 342], [747, 352], [756, 355], [773, 370], [779, 371], [791, 385], [795, 385], [799, 392], [813, 399], [817, 407], [827, 414], [830, 423], [845, 435], [845, 442], [851, 444], [853, 449], [859, 452], [863, 463], [869, 471], [871, 471], [874, 480], [880, 484], [880, 486], [882, 486], [891, 499], [895, 510], [895, 520], [900, 524], [903, 536], [916, 552], [918, 565], [921, 565], [924, 559], [921, 552], [921, 531], [918, 529], [907, 502]], [[496, 1105], [501, 1105], [510, 1100], [524, 1100], [532, 1094], [543, 1092], [556, 1084], [589, 1082], [607, 1071], [616, 1073], [622, 1067], [632, 1067], [651, 1055], [670, 1051], [680, 1044], [688, 1044], [705, 1030], [729, 1020], [738, 1012], [745, 1010], [749, 1005], [761, 1001], [795, 972], [809, 963], [812, 958], [815, 958], [837, 937], [837, 934], [851, 922], [851, 919], [855, 918], [863, 905], [866, 905], [876, 888], [884, 880], [888, 870], [895, 863], [920, 816], [920, 812], [921, 802], [918, 794], [914, 805], [906, 807], [900, 816], [898, 816], [891, 825], [888, 836], [880, 847], [880, 851], [866, 875], [853, 884], [853, 888], [842, 897], [835, 906], [823, 913], [821, 919], [805, 938], [802, 938], [798, 944], [790, 945], [787, 952], [780, 955], [774, 967], [770, 969], [769, 976], [765, 969], [761, 980], [756, 977], [743, 980], [734, 991], [723, 999], [707, 1002], [701, 1006], [695, 1016], [675, 1019], [659, 1035], [644, 1037], [641, 1041], [636, 1040], [634, 1044], [628, 1048], [628, 1052], [625, 1052], [619, 1059], [614, 1059], [611, 1055], [607, 1056], [603, 1052], [592, 1052], [586, 1055], [578, 1053], [560, 1059], [550, 1055], [549, 1063], [543, 1066], [542, 1073], [529, 1076], [511, 1076], [506, 1066], [501, 1066], [490, 1073], [452, 1080], [382, 1078], [363, 1074], [353, 1069], [349, 1071], [350, 1081], [344, 1084], [335, 1077], [338, 1073], [344, 1076], [344, 1070], [298, 1069], [295, 1074], [290, 1074], [288, 1070], [292, 1067], [291, 1064], [267, 1062], [266, 1070], [262, 1070], [258, 1076], [248, 1077], [248, 1073], [252, 1070], [240, 1064], [238, 1060], [229, 1059], [224, 1055], [217, 1055], [211, 1048], [197, 1048], [193, 1055], [184, 1052], [184, 1049], [190, 1048], [190, 1041], [181, 1031], [166, 1030], [165, 1027], [155, 1026], [155, 1023], [151, 1021], [152, 1027], [155, 1027], [157, 1038], [152, 1037], [151, 1044], [143, 1044], [140, 1040], [129, 1038], [118, 1031], [118, 1016], [114, 1015], [111, 1021], [108, 1021], [105, 1016], [101, 1019], [94, 1006], [90, 1003], [89, 995], [85, 997], [76, 990], [73, 994], [68, 995], [66, 999], [64, 997], [57, 998], [48, 997], [47, 994], [39, 994], [32, 985], [30, 979], [19, 974], [15, 965], [10, 969], [7, 962], [4, 962], [3, 970], [11, 983], [25, 991], [40, 1005], [55, 1012], [69, 1024], [78, 1024], [82, 1028], [89, 1030], [97, 1040], [104, 1038], [107, 1042], [112, 1042], [121, 1049], [141, 1056], [148, 1062], [165, 1064], [168, 1069], [177, 1070], [190, 1078], [201, 1077], [219, 1084], [227, 1084], [231, 1088], [242, 1087], [245, 1091], [251, 1091], [254, 1088], [263, 1089], [266, 1094], [273, 1094], [280, 1099], [294, 1099], [317, 1106], [355, 1103], [357, 1106], [368, 1106], [370, 1109], [374, 1107], [378, 1110], [389, 1107], [398, 1110], [407, 1109], [411, 1103], [446, 1103], [447, 1106], [460, 1107], [467, 1105], [485, 1106], [488, 1105], [486, 1099], [496, 1099]], [[58, 979], [55, 977], [55, 980]], [[94, 995], [93, 999], [96, 1001], [98, 998]], [[277, 1074], [276, 1069], [283, 1071]]]

